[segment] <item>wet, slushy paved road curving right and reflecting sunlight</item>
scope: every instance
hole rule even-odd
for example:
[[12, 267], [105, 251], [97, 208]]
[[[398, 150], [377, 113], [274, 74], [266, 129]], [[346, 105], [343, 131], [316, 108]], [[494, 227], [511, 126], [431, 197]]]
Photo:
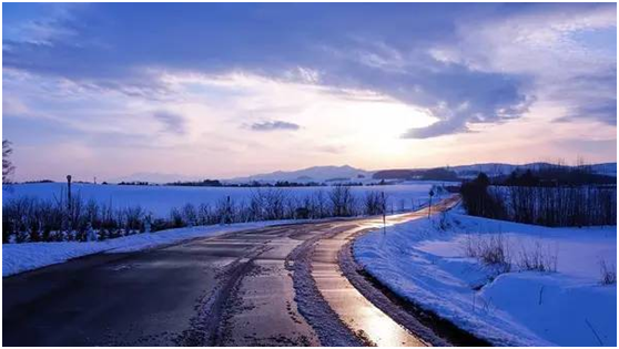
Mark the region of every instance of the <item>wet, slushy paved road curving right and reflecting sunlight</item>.
[[[387, 223], [423, 216], [392, 216]], [[432, 330], [418, 336], [403, 327], [389, 314], [397, 306], [374, 306], [344, 277], [337, 254], [355, 234], [382, 223], [268, 227], [143, 253], [95, 255], [4, 278], [2, 343], [445, 343]]]

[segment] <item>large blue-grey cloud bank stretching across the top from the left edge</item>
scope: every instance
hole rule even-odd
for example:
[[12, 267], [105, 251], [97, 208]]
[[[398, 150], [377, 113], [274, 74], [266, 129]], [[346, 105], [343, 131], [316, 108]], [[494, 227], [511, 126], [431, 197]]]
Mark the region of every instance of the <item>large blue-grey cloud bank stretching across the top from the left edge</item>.
[[[499, 110], [515, 110], [529, 99], [515, 74], [477, 71], [461, 62], [446, 64], [429, 53], [437, 43], [453, 43], [460, 18], [478, 19], [495, 9], [494, 4], [149, 4], [140, 11], [123, 4], [90, 8], [75, 10], [78, 13], [71, 17], [89, 24], [72, 21], [71, 40], [61, 35], [51, 38], [49, 45], [14, 42], [4, 52], [4, 66], [155, 100], [174, 95], [159, 71], [212, 75], [243, 71], [334, 90], [373, 91], [427, 110], [470, 104], [467, 113], [446, 111], [435, 115], [450, 119], [449, 124], [493, 122], [498, 120]], [[503, 9], [510, 13], [518, 7]], [[161, 31], [156, 23], [170, 22], [171, 12], [182, 18], [182, 25], [171, 23], [164, 34], [152, 35]], [[372, 25], [367, 25], [369, 13]], [[74, 42], [95, 44], [75, 47]], [[456, 117], [465, 120], [453, 120]]]

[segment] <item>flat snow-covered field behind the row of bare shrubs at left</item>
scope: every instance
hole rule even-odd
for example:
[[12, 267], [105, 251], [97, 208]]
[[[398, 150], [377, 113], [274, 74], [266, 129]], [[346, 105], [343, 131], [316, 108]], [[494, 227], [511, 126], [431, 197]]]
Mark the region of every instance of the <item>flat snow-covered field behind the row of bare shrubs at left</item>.
[[[415, 207], [427, 201], [428, 192], [437, 182], [418, 182], [406, 185], [363, 186], [353, 187], [353, 194], [363, 196], [371, 191], [385, 192], [388, 198], [388, 208], [393, 206], [398, 211], [404, 204], [405, 209]], [[2, 202], [19, 196], [34, 196], [43, 199], [60, 197], [61, 191], [67, 191], [64, 183], [37, 183], [11, 185], [10, 189], [2, 191]], [[265, 189], [265, 188], [261, 188]], [[316, 191], [331, 191], [329, 187], [284, 187], [284, 192], [292, 196], [305, 197]], [[247, 201], [255, 188], [250, 187], [182, 187], [182, 186], [133, 186], [133, 185], [93, 185], [73, 184], [73, 195], [83, 199], [95, 199], [101, 204], [110, 204], [116, 208], [140, 205], [154, 216], [168, 216], [173, 207], [185, 204], [215, 204], [230, 196], [232, 201]]]

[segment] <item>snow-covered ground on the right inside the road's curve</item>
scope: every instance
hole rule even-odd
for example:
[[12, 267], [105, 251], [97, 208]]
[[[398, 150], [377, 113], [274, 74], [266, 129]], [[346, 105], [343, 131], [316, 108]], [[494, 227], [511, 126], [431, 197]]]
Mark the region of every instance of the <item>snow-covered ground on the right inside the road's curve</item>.
[[[493, 240], [507, 247], [509, 273], [467, 257], [467, 246]], [[556, 273], [524, 270], [525, 253]], [[435, 215], [372, 232], [354, 254], [395, 292], [493, 343], [617, 345], [617, 284], [600, 284], [601, 261], [616, 270], [616, 226], [547, 228], [451, 212], [443, 224]]]

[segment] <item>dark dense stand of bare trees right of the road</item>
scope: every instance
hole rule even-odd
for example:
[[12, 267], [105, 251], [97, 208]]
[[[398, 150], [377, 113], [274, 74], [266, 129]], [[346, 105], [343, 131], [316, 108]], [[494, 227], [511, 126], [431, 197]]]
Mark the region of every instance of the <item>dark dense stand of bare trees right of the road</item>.
[[526, 224], [617, 225], [616, 185], [588, 183], [584, 178], [593, 177], [587, 177], [586, 172], [568, 170], [560, 174], [544, 181], [539, 173], [527, 171], [491, 183], [480, 173], [463, 183], [463, 204], [470, 215]]

